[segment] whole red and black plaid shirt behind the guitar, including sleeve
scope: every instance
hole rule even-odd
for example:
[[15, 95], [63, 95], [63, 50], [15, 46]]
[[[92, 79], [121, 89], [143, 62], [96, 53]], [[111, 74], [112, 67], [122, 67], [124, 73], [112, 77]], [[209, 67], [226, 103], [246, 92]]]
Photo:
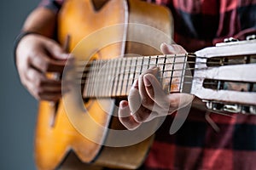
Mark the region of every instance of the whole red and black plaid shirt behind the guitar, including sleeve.
[[[41, 3], [58, 10], [62, 1]], [[256, 33], [256, 0], [148, 0], [172, 10], [175, 41], [193, 52], [225, 37], [243, 39]], [[177, 133], [170, 135], [172, 116], [156, 132], [142, 169], [256, 169], [256, 116], [212, 114], [219, 132], [205, 113], [190, 111]]]

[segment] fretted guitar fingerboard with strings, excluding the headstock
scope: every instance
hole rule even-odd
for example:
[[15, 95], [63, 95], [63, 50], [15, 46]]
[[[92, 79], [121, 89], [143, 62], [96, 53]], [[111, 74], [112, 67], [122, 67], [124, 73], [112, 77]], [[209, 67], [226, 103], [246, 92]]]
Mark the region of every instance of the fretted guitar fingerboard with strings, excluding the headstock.
[[[119, 98], [129, 94], [132, 83], [152, 66], [159, 68], [158, 79], [166, 93], [189, 93], [188, 54], [126, 57], [93, 60], [83, 73], [84, 98]], [[190, 74], [191, 75], [191, 74]]]

